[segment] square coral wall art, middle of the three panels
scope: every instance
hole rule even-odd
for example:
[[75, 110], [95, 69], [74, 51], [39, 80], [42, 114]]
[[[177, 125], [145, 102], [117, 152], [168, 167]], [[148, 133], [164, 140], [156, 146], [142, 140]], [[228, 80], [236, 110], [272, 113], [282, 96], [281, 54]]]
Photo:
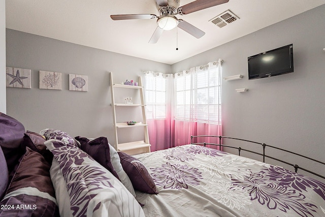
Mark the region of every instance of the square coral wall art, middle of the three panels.
[[40, 89], [62, 89], [62, 74], [40, 71]]

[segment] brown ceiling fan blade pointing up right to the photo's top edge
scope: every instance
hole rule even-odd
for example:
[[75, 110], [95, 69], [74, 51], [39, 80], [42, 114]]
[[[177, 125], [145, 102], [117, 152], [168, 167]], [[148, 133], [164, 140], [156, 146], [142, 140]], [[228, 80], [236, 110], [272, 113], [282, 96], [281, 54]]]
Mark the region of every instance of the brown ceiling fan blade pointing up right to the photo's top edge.
[[206, 8], [211, 8], [213, 6], [221, 5], [227, 2], [229, 2], [229, 0], [197, 0], [180, 7], [178, 10], [180, 15], [184, 15]]

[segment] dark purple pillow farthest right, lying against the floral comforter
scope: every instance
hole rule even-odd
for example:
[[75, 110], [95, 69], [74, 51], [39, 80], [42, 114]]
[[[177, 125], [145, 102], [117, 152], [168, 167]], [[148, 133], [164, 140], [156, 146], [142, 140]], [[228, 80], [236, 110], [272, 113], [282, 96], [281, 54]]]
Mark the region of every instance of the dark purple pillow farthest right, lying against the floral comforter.
[[156, 185], [146, 167], [135, 157], [118, 151], [123, 170], [130, 178], [135, 190], [148, 194], [158, 194]]

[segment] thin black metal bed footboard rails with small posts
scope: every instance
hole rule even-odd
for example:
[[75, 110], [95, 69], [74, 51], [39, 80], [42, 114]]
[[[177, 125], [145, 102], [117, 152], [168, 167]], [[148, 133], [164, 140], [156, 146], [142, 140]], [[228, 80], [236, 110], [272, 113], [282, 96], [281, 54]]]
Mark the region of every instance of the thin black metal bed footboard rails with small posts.
[[[206, 142], [193, 142], [193, 138], [198, 138], [198, 137], [218, 137], [219, 138], [219, 144], [215, 144], [215, 143], [206, 143]], [[224, 144], [221, 144], [221, 139], [234, 139], [234, 140], [240, 140], [240, 141], [245, 141], [245, 142], [249, 142], [249, 143], [253, 143], [253, 144], [258, 144], [258, 145], [261, 145], [262, 148], [263, 148], [263, 153], [259, 153], [259, 152], [256, 152], [256, 151], [252, 151], [252, 150], [249, 150], [249, 149], [245, 149], [245, 148], [242, 148], [242, 147], [234, 147], [234, 146], [229, 146], [229, 145], [224, 145]], [[281, 151], [284, 151], [284, 152], [288, 152], [288, 153], [291, 153], [291, 154], [295, 154], [296, 156], [299, 156], [299, 157], [302, 157], [302, 158], [305, 158], [305, 159], [308, 159], [308, 160], [311, 160], [311, 161], [314, 161], [314, 162], [317, 162], [319, 164], [323, 164], [325, 165], [324, 162], [321, 162], [321, 161], [318, 161], [318, 160], [315, 160], [315, 159], [312, 159], [312, 158], [309, 158], [309, 157], [306, 157], [306, 156], [303, 156], [302, 154], [299, 154], [299, 153], [295, 153], [293, 151], [289, 151], [289, 150], [285, 150], [283, 148], [278, 148], [278, 147], [274, 147], [274, 146], [271, 146], [271, 145], [267, 145], [265, 143], [259, 143], [259, 142], [254, 142], [254, 141], [250, 141], [250, 140], [246, 140], [246, 139], [238, 139], [238, 138], [233, 138], [233, 137], [228, 137], [228, 136], [208, 136], [208, 135], [202, 135], [202, 136], [191, 136], [191, 144], [196, 144], [196, 145], [217, 145], [219, 146], [219, 148], [221, 149], [221, 147], [228, 147], [228, 148], [234, 148], [234, 149], [238, 149], [238, 155], [240, 156], [240, 153], [241, 151], [247, 151], [247, 152], [250, 152], [250, 153], [254, 153], [254, 154], [257, 154], [259, 156], [263, 156], [263, 163], [265, 163], [265, 158], [269, 158], [269, 159], [273, 159], [275, 161], [279, 161], [279, 162], [282, 162], [284, 164], [287, 164], [287, 165], [290, 165], [290, 166], [293, 166], [295, 168], [295, 172], [298, 171], [298, 169], [301, 169], [301, 170], [304, 170], [308, 173], [311, 173], [313, 175], [316, 175], [320, 178], [323, 178], [325, 179], [325, 176], [321, 175], [321, 174], [318, 174], [318, 173], [315, 173], [313, 171], [310, 171], [310, 170], [307, 170], [305, 168], [302, 168], [300, 166], [298, 166], [297, 164], [291, 164], [291, 163], [288, 163], [286, 161], [283, 161], [283, 160], [280, 160], [280, 159], [277, 159], [277, 158], [274, 158], [274, 157], [271, 157], [271, 156], [268, 156], [267, 154], [265, 154], [265, 151], [266, 151], [266, 147], [270, 147], [270, 148], [274, 148], [274, 149], [277, 149], [277, 150], [281, 150]]]

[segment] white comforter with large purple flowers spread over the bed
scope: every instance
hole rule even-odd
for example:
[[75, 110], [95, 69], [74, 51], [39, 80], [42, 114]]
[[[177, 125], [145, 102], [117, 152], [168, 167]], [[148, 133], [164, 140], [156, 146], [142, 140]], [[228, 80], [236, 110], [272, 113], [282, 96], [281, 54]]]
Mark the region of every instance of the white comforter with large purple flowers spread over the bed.
[[325, 184], [282, 167], [199, 145], [135, 157], [159, 192], [136, 192], [146, 216], [325, 216]]

